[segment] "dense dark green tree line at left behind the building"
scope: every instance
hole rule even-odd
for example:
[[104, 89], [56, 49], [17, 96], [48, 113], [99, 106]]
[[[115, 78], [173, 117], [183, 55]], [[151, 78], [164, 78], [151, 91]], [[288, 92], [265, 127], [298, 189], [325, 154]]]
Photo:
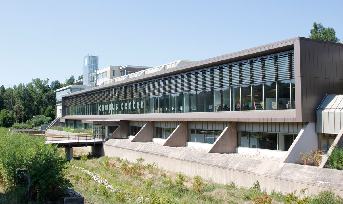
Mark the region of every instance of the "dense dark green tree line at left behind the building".
[[[82, 79], [82, 75], [79, 77]], [[69, 86], [75, 81], [72, 75], [64, 83], [58, 80], [49, 84], [49, 79], [32, 79], [13, 88], [0, 87], [0, 126], [10, 127], [13, 123], [29, 123], [33, 116], [56, 117], [57, 89]]]

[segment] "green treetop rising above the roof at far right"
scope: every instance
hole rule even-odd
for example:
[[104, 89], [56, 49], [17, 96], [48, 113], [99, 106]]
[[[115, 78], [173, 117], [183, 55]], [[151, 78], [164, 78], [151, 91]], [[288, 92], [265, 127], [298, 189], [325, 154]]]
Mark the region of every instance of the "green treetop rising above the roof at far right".
[[322, 24], [313, 23], [313, 29], [310, 30], [309, 37], [311, 39], [319, 39], [321, 41], [329, 41], [339, 43], [340, 39], [336, 37], [336, 32], [332, 27], [324, 27]]

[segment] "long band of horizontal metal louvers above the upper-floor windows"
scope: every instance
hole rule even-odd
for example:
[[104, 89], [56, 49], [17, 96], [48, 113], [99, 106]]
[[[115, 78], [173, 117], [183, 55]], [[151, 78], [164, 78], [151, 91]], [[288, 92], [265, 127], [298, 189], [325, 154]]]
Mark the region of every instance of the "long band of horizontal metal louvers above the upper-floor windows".
[[[183, 76], [182, 78], [181, 75]], [[79, 105], [91, 104], [89, 107], [83, 108], [82, 112], [95, 109], [95, 105], [92, 104], [101, 102], [293, 78], [294, 52], [291, 50], [68, 97], [64, 99], [64, 106], [78, 105], [77, 107], [66, 109], [67, 112], [73, 113], [76, 110], [80, 111], [81, 107]]]

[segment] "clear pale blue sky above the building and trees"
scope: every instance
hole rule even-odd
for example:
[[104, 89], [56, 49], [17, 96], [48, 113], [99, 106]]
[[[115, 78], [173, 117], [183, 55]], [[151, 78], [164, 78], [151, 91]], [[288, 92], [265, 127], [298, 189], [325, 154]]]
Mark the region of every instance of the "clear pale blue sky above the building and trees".
[[342, 1], [1, 1], [0, 85], [64, 82], [83, 56], [109, 65], [203, 60], [296, 36], [343, 41]]

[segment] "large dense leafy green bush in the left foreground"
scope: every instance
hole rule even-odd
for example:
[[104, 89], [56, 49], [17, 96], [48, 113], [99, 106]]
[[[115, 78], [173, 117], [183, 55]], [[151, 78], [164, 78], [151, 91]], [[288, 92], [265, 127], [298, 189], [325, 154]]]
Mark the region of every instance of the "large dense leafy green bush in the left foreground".
[[7, 185], [15, 184], [17, 168], [26, 168], [31, 196], [38, 200], [58, 196], [71, 186], [65, 171], [68, 161], [60, 156], [57, 145], [46, 145], [44, 137], [23, 133], [8, 133], [0, 140], [0, 169]]

